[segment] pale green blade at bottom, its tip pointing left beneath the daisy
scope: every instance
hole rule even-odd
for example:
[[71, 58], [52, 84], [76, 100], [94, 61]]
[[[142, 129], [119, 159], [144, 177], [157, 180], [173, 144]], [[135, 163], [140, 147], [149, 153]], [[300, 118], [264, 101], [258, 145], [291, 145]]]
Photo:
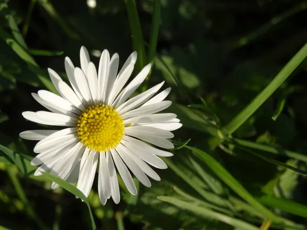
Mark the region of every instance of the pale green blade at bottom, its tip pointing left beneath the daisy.
[[258, 230], [258, 227], [249, 224], [245, 221], [235, 219], [233, 217], [214, 212], [210, 209], [206, 209], [204, 207], [200, 207], [196, 205], [195, 203], [182, 201], [180, 199], [174, 198], [174, 197], [168, 197], [168, 196], [159, 196], [159, 200], [162, 200], [164, 202], [171, 203], [183, 210], [189, 210], [195, 214], [198, 214], [200, 216], [203, 216], [205, 218], [209, 219], [215, 219], [224, 223], [227, 223], [231, 226], [237, 227], [239, 229], [245, 229], [245, 230]]

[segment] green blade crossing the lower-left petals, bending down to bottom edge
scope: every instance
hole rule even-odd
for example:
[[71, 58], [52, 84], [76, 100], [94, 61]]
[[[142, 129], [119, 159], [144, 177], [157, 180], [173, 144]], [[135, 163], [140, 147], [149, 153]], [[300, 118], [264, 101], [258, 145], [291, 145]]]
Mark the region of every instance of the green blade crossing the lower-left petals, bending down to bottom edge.
[[84, 196], [84, 194], [79, 189], [77, 189], [75, 186], [71, 185], [69, 182], [62, 180], [61, 178], [59, 178], [57, 176], [51, 175], [50, 173], [42, 172], [42, 174], [43, 174], [43, 176], [50, 179], [51, 181], [56, 182], [63, 189], [65, 189], [65, 190], [69, 191], [70, 193], [76, 195], [77, 197], [79, 197], [80, 199], [82, 199], [86, 203], [87, 208], [89, 208], [89, 212], [90, 212], [90, 217], [91, 217], [91, 221], [92, 221], [92, 228], [96, 229], [96, 225], [95, 225], [94, 217], [93, 217], [93, 214], [92, 214], [91, 206], [90, 206], [89, 200], [87, 200], [86, 196]]

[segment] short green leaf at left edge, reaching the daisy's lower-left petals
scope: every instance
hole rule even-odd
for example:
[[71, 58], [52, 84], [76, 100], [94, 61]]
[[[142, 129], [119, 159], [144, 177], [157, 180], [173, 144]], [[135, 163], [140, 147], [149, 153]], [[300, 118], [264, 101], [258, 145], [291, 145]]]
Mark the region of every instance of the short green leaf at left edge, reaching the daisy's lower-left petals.
[[25, 175], [29, 176], [37, 169], [37, 167], [30, 164], [30, 160], [25, 156], [17, 152], [14, 152], [7, 147], [0, 145], [0, 150], [3, 151], [10, 159], [16, 164], [16, 166]]

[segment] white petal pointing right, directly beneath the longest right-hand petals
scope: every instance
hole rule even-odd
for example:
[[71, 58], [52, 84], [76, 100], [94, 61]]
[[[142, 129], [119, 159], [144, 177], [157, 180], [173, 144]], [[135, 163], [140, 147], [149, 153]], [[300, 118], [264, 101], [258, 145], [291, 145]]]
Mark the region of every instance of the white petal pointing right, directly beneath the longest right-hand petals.
[[150, 135], [155, 137], [161, 137], [161, 138], [172, 138], [174, 137], [174, 134], [172, 134], [170, 131], [166, 131], [163, 129], [157, 129], [153, 127], [147, 127], [147, 126], [130, 126], [125, 127], [125, 134], [130, 136], [142, 136], [142, 135]]

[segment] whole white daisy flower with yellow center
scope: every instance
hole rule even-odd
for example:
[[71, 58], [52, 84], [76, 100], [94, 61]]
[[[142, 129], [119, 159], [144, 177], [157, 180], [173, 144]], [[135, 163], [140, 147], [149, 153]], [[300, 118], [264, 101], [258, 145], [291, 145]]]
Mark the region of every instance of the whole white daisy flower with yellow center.
[[[39, 141], [34, 147], [38, 155], [31, 164], [41, 166], [34, 175], [50, 172], [72, 184], [77, 181], [77, 188], [87, 197], [98, 167], [98, 193], [102, 204], [110, 197], [115, 203], [120, 201], [117, 171], [128, 191], [134, 195], [137, 189], [130, 171], [146, 187], [151, 186], [147, 176], [160, 180], [150, 166], [166, 169], [166, 164], [158, 156], [172, 154], [147, 143], [164, 149], [173, 148], [167, 139], [174, 136], [170, 131], [182, 124], [174, 113], [157, 113], [171, 104], [164, 101], [170, 88], [155, 96], [164, 82], [129, 99], [151, 67], [146, 65], [124, 87], [136, 60], [137, 53], [134, 52], [118, 73], [118, 54], [110, 58], [108, 51], [104, 50], [97, 73], [89, 52], [81, 47], [81, 68], [65, 58], [65, 71], [71, 86], [48, 69], [60, 96], [39, 90], [32, 96], [50, 111], [26, 111], [23, 116], [32, 122], [63, 126], [63, 129], [28, 130], [19, 134], [24, 139]], [[51, 187], [56, 189], [59, 185], [53, 182]]]

